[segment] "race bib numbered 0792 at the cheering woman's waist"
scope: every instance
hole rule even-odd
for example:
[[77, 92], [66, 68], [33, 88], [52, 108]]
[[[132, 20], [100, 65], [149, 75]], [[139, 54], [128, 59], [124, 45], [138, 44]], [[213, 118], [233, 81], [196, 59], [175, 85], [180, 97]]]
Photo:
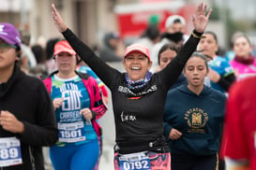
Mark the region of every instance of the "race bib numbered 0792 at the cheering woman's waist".
[[119, 158], [120, 170], [150, 170], [150, 160], [145, 152], [121, 155]]

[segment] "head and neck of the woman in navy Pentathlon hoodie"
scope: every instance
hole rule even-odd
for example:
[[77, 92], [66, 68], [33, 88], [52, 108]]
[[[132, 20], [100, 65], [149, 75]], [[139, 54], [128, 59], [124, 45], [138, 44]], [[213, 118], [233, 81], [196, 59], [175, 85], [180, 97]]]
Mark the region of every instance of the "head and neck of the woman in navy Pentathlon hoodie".
[[195, 89], [195, 88], [202, 88], [204, 78], [208, 74], [208, 69], [206, 66], [206, 61], [203, 58], [198, 56], [191, 56], [188, 59], [188, 62], [184, 69], [184, 75], [188, 79], [188, 88]]

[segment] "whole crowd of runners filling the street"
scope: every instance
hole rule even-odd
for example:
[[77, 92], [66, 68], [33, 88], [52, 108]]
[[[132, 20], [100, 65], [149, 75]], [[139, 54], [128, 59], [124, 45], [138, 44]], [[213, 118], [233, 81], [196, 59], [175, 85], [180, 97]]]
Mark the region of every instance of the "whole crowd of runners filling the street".
[[247, 35], [233, 35], [229, 56], [219, 55], [218, 35], [206, 31], [212, 9], [201, 3], [188, 35], [185, 19], [173, 15], [164, 33], [149, 25], [127, 47], [106, 33], [94, 49], [52, 9], [63, 38], [44, 45], [24, 44], [0, 22], [1, 169], [43, 170], [50, 157], [55, 170], [98, 170], [98, 120], [109, 100], [115, 170], [256, 168], [256, 61]]

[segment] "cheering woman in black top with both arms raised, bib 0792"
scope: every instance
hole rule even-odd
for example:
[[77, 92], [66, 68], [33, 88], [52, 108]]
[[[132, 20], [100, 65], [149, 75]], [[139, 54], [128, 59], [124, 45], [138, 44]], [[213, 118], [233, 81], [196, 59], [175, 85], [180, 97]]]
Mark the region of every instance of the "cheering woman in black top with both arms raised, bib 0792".
[[116, 145], [114, 168], [161, 169], [171, 168], [170, 151], [163, 136], [162, 117], [166, 94], [179, 77], [189, 56], [206, 28], [211, 10], [206, 14], [203, 3], [193, 17], [194, 31], [173, 62], [156, 74], [151, 74], [149, 50], [143, 45], [128, 46], [120, 73], [102, 62], [71, 30], [53, 6], [56, 28], [112, 92]]

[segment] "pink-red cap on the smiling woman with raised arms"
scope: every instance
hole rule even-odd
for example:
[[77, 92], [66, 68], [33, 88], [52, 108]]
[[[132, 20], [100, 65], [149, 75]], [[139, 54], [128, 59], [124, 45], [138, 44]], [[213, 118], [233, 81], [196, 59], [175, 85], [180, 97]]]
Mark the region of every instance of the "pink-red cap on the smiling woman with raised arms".
[[150, 52], [149, 52], [148, 48], [143, 46], [142, 44], [132, 44], [132, 45], [128, 46], [125, 51], [124, 60], [128, 56], [128, 54], [130, 54], [131, 52], [134, 52], [134, 51], [139, 51], [139, 52], [143, 53], [148, 58], [148, 60], [151, 61], [150, 60]]

